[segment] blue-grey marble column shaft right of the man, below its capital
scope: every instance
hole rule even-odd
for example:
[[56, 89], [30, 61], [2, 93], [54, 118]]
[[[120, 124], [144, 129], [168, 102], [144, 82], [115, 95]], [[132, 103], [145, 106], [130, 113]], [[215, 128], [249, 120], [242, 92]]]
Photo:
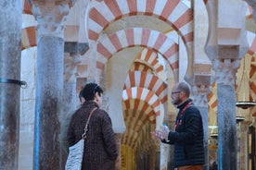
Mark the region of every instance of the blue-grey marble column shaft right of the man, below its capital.
[[220, 169], [237, 169], [237, 123], [235, 88], [218, 84], [218, 164]]

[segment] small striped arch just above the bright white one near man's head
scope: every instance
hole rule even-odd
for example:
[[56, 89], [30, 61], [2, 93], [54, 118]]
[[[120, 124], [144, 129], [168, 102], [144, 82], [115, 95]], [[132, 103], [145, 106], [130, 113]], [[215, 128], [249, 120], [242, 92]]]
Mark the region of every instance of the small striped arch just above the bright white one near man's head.
[[131, 87], [146, 88], [149, 91], [153, 91], [159, 97], [160, 103], [166, 103], [167, 101], [167, 84], [150, 73], [129, 71], [123, 89]]

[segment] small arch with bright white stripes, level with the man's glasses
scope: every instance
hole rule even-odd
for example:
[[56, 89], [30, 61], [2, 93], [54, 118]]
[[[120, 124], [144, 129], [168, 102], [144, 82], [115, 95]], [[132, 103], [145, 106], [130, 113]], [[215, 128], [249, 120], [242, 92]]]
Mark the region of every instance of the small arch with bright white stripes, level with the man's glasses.
[[[148, 91], [145, 88], [139, 88], [139, 87], [132, 87], [127, 88], [122, 91], [122, 101], [127, 101], [130, 99], [139, 99], [140, 101], [143, 101], [142, 103], [138, 103], [135, 105], [135, 109], [143, 110], [144, 102], [146, 102], [148, 105], [150, 105], [153, 108], [155, 115], [147, 115], [150, 121], [155, 121], [156, 115], [160, 115], [160, 100], [158, 96], [152, 92]], [[125, 103], [125, 102], [124, 102]], [[125, 108], [130, 108], [131, 105], [126, 105]]]

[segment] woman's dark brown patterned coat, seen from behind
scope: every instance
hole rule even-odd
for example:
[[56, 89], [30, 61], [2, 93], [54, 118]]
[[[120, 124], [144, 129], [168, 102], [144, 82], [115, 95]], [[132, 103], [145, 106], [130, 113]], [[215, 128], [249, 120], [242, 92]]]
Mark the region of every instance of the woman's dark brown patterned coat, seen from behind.
[[72, 115], [67, 140], [69, 146], [81, 140], [86, 121], [95, 107], [97, 109], [91, 116], [86, 133], [82, 170], [114, 170], [118, 150], [111, 119], [96, 103], [84, 102]]

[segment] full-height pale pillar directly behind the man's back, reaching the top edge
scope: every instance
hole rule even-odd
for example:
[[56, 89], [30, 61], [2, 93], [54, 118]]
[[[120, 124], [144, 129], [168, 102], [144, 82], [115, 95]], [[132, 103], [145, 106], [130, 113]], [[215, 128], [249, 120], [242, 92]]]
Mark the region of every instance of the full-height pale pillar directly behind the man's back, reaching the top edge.
[[204, 45], [208, 33], [207, 11], [203, 1], [192, 1], [194, 14], [194, 63], [193, 63], [193, 79], [189, 82], [191, 85], [191, 93], [193, 102], [198, 107], [204, 130], [204, 169], [208, 169], [208, 94], [211, 88], [211, 60], [204, 53]]

